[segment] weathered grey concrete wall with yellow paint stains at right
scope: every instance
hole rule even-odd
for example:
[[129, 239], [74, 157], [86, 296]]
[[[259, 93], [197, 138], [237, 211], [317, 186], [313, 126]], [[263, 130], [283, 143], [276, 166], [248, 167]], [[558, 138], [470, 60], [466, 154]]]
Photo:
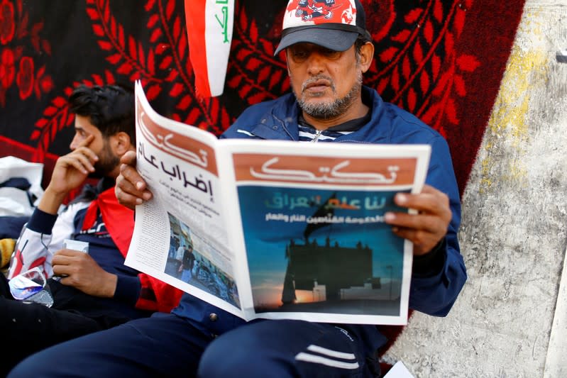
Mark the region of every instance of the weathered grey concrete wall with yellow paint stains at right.
[[567, 377], [565, 49], [567, 0], [527, 0], [463, 196], [469, 280], [385, 355], [416, 377]]

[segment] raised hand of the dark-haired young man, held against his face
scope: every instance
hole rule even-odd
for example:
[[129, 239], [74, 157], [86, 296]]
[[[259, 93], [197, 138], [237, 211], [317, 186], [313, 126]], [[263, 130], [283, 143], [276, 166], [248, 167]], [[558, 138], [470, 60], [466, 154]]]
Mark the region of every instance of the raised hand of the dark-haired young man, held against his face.
[[40, 210], [56, 214], [65, 196], [79, 187], [89, 173], [94, 172], [94, 163], [99, 157], [88, 148], [92, 140], [94, 135], [89, 135], [75, 150], [57, 159], [51, 181], [38, 204]]

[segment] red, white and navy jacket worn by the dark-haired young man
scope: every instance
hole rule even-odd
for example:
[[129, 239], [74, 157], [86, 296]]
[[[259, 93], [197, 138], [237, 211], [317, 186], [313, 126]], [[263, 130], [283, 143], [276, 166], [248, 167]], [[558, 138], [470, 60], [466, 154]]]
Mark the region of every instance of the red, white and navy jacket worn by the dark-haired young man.
[[8, 277], [33, 267], [42, 267], [45, 276], [51, 277], [51, 260], [62, 249], [63, 240], [87, 241], [93, 259], [118, 277], [114, 299], [141, 310], [169, 312], [179, 303], [182, 291], [123, 265], [133, 233], [133, 211], [118, 203], [108, 179], [102, 179], [94, 191], [89, 189], [96, 198], [75, 201], [58, 216], [35, 209], [14, 248]]

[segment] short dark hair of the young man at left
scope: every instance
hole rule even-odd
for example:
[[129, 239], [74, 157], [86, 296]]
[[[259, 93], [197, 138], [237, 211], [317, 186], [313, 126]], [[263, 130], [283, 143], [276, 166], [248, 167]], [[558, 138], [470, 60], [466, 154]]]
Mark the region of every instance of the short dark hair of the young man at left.
[[131, 89], [118, 85], [87, 87], [81, 84], [69, 96], [69, 106], [71, 113], [88, 117], [105, 138], [123, 131], [135, 143], [134, 94]]

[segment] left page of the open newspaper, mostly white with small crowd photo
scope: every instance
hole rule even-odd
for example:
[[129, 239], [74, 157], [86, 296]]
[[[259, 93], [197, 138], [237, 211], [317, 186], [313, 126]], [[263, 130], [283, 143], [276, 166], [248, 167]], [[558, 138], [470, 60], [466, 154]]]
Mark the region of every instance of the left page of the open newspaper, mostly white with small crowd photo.
[[136, 85], [136, 169], [154, 198], [136, 208], [126, 265], [240, 313], [214, 143], [155, 113]]

